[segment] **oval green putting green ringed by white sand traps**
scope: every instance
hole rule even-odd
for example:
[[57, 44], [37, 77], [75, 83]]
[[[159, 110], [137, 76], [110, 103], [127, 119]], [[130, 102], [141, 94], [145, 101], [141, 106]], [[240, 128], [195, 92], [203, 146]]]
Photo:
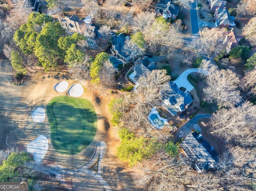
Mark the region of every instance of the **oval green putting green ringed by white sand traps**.
[[61, 154], [77, 154], [94, 139], [97, 116], [87, 99], [58, 96], [46, 106], [54, 149]]

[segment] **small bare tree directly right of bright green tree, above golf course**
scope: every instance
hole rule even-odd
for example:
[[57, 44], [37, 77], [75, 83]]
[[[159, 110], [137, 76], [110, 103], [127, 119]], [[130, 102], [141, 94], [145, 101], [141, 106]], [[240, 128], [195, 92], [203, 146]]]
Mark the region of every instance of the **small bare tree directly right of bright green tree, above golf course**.
[[113, 64], [107, 60], [103, 63], [103, 67], [100, 70], [100, 81], [107, 87], [112, 88], [115, 83], [115, 73], [117, 69], [114, 68]]

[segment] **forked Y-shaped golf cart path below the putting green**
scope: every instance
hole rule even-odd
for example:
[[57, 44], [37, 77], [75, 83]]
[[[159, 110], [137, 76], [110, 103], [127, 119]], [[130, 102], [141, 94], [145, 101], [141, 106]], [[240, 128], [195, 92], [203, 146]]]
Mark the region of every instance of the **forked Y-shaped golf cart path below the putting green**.
[[[90, 175], [92, 177], [94, 177], [96, 180], [98, 180], [102, 186], [104, 187], [104, 189], [106, 191], [111, 191], [111, 187], [108, 185], [108, 183], [106, 182], [106, 180], [102, 177], [101, 173], [101, 165], [102, 165], [102, 159], [105, 155], [106, 152], [106, 142], [104, 141], [100, 141], [96, 143], [96, 150], [94, 153], [94, 156], [92, 157], [92, 159], [84, 166], [79, 167], [78, 169], [67, 169], [62, 167], [61, 165], [49, 165], [46, 167], [42, 167], [40, 165], [37, 165], [35, 163], [28, 163], [28, 165], [30, 166], [30, 168], [35, 169], [37, 171], [41, 171], [44, 173], [54, 173], [56, 174], [56, 177], [62, 177], [62, 175], [74, 175], [74, 174], [87, 174]], [[96, 160], [96, 158], [100, 155], [100, 159], [99, 159], [99, 163], [98, 163], [98, 173], [89, 170], [88, 167], [90, 167], [90, 165], [92, 165], [94, 163], [94, 161]]]

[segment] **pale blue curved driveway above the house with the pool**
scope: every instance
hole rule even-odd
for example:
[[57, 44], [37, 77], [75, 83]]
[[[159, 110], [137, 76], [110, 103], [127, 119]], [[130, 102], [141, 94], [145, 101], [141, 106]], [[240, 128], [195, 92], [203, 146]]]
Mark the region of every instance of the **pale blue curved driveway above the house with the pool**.
[[188, 75], [191, 73], [197, 72], [199, 73], [200, 70], [197, 68], [192, 68], [192, 69], [187, 69], [186, 71], [184, 71], [176, 80], [174, 80], [173, 82], [176, 83], [176, 85], [178, 86], [178, 88], [180, 87], [184, 87], [186, 88], [186, 92], [190, 92], [192, 89], [194, 89], [194, 87], [190, 84], [190, 82], [188, 81]]

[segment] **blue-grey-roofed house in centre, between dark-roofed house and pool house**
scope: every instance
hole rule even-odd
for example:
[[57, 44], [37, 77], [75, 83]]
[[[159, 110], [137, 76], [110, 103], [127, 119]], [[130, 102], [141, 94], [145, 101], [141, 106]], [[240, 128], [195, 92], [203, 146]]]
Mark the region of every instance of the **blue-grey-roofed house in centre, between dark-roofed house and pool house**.
[[129, 79], [138, 86], [138, 79], [145, 77], [152, 70], [156, 70], [156, 64], [150, 62], [147, 56], [140, 58], [134, 62], [133, 73], [129, 75]]

